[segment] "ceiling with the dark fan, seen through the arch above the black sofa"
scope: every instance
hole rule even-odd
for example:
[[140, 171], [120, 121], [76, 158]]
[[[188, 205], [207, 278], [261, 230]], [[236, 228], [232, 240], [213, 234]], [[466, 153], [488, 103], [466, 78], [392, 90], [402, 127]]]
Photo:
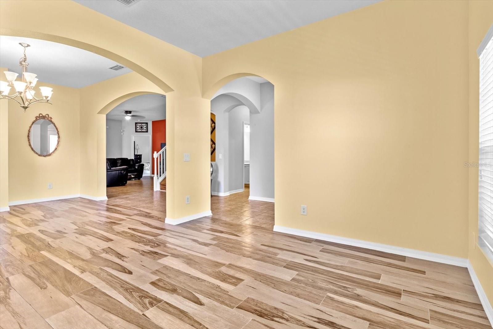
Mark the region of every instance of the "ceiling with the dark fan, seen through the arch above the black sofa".
[[117, 105], [106, 114], [107, 119], [125, 120], [124, 110], [137, 115], [136, 120], [152, 121], [166, 119], [166, 97], [164, 95], [146, 94], [133, 97]]

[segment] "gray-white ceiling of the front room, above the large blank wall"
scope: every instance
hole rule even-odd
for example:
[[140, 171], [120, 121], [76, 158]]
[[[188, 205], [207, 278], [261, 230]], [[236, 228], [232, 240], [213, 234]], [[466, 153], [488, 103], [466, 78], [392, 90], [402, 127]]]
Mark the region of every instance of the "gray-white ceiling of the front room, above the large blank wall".
[[379, 0], [74, 0], [204, 57]]

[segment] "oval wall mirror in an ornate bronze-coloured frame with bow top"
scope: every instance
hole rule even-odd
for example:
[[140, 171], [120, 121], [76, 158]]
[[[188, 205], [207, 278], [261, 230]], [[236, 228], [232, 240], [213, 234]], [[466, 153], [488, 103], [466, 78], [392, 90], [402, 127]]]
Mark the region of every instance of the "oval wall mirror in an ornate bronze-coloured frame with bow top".
[[29, 146], [39, 156], [50, 156], [60, 144], [60, 134], [48, 114], [39, 113], [31, 123], [28, 132]]

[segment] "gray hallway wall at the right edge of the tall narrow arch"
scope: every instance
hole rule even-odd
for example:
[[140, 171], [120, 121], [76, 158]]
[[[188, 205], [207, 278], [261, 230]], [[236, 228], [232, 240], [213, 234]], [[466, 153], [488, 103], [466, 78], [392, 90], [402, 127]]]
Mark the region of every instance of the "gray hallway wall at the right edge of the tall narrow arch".
[[260, 113], [250, 113], [250, 196], [274, 198], [274, 85], [260, 84]]

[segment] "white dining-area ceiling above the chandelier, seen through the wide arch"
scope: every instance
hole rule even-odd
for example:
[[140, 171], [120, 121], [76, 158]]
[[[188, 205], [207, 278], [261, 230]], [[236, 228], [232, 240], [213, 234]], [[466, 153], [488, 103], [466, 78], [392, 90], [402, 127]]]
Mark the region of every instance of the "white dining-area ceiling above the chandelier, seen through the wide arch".
[[[132, 72], [127, 68], [118, 71], [109, 70], [109, 67], [118, 63], [65, 44], [27, 37], [0, 36], [0, 66], [15, 73], [21, 73], [19, 59], [23, 56], [23, 48], [19, 42], [31, 45], [26, 50], [28, 72], [36, 73], [41, 82], [82, 88]], [[1, 79], [5, 80], [3, 72]]]

